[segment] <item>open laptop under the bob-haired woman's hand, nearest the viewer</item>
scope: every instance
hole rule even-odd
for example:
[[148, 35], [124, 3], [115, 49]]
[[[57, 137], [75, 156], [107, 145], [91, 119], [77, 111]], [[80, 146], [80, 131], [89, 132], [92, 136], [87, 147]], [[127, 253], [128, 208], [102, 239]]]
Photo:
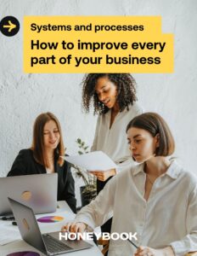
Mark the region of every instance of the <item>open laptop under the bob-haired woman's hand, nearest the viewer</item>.
[[62, 239], [59, 241], [59, 232], [42, 235], [32, 209], [11, 198], [8, 198], [8, 201], [12, 207], [14, 218], [23, 240], [32, 247], [36, 247], [37, 250], [45, 255], [59, 255], [93, 247], [91, 244], [82, 240], [73, 241]]

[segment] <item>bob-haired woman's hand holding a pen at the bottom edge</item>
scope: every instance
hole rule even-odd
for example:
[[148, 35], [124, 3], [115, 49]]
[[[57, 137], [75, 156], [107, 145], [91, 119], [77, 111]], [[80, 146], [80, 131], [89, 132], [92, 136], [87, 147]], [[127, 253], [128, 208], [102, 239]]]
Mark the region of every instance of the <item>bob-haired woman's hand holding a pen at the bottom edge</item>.
[[163, 249], [153, 249], [150, 247], [138, 247], [138, 250], [134, 256], [174, 256], [172, 247], [166, 247]]

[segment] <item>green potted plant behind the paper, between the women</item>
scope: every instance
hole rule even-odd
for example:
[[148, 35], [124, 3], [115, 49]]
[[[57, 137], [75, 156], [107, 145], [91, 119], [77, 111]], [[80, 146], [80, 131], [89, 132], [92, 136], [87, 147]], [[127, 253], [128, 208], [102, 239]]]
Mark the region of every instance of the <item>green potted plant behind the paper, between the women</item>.
[[[79, 148], [78, 154], [88, 153], [89, 147], [82, 141], [81, 138], [77, 138], [76, 143]], [[80, 188], [82, 207], [84, 207], [97, 195], [96, 177], [79, 166], [72, 165], [72, 168], [74, 169], [76, 177], [82, 177], [84, 183], [84, 186]]]

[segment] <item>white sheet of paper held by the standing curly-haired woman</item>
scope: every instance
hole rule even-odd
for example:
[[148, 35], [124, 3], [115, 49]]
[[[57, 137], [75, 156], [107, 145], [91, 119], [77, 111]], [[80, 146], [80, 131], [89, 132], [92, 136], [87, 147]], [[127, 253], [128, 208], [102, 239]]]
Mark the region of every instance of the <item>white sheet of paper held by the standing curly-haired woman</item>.
[[106, 171], [117, 167], [115, 162], [102, 151], [62, 157], [73, 165], [87, 169], [87, 171]]

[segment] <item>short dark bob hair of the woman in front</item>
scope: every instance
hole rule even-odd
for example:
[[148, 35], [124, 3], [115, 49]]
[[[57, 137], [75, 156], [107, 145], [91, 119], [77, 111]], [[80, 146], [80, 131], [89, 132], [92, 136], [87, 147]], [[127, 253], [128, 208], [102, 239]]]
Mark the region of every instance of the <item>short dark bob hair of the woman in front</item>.
[[156, 148], [156, 156], [171, 155], [175, 149], [174, 138], [172, 132], [166, 124], [166, 121], [158, 113], [142, 113], [132, 119], [128, 125], [127, 130], [136, 127], [149, 131], [152, 137], [159, 136], [159, 147]]

